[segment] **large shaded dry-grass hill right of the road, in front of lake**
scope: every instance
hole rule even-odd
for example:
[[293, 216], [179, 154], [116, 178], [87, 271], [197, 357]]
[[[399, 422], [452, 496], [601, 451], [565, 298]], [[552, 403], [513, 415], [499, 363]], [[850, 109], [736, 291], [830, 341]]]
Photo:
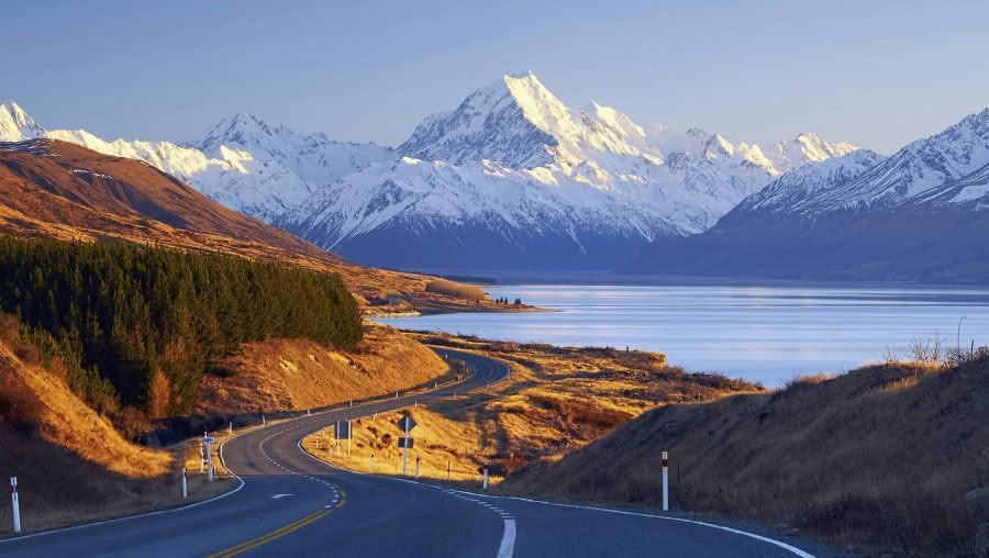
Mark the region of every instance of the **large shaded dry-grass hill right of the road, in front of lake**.
[[890, 362], [786, 389], [660, 406], [511, 491], [753, 517], [854, 551], [989, 551], [989, 351], [962, 364]]

